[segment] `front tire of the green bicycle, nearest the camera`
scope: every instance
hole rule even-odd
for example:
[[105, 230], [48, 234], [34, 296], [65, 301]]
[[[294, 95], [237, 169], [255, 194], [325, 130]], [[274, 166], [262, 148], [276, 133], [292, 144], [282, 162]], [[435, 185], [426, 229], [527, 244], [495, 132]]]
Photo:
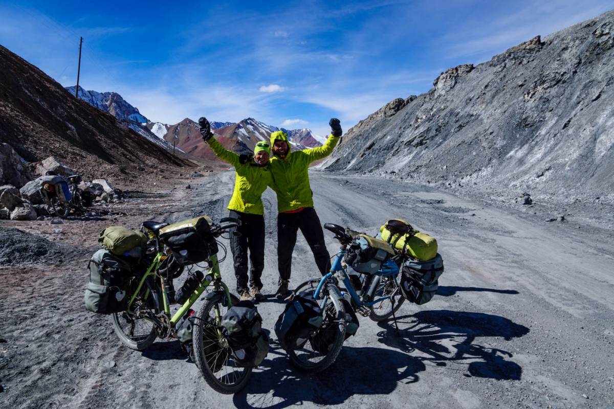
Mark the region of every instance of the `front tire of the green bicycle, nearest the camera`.
[[[220, 338], [217, 335], [219, 323], [215, 324], [215, 318], [210, 314], [214, 312], [214, 307], [218, 306], [220, 307], [220, 316], [223, 316], [227, 310], [224, 298], [222, 294], [216, 294], [207, 300], [198, 311], [192, 343], [196, 367], [203, 375], [204, 381], [216, 392], [234, 394], [246, 386], [252, 368], [236, 366], [230, 348], [220, 345]], [[234, 305], [237, 302], [238, 299], [231, 296], [231, 303]], [[228, 374], [229, 367], [232, 369], [232, 381], [230, 381]]]

